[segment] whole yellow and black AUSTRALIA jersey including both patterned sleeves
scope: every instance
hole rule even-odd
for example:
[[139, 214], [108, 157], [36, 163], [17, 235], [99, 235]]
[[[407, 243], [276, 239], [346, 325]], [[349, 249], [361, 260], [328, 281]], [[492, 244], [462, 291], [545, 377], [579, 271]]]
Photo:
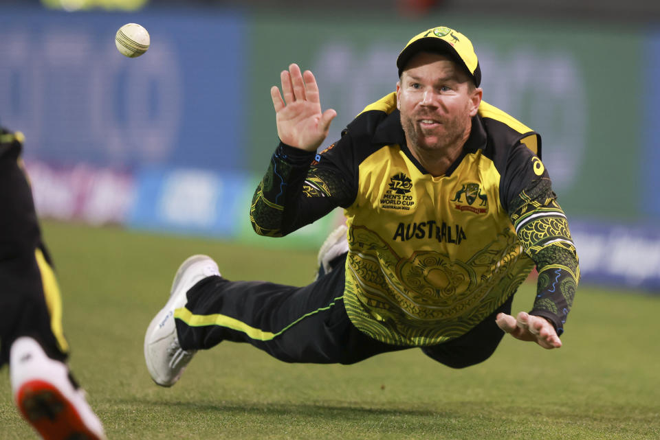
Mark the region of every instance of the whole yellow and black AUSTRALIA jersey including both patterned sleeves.
[[285, 235], [344, 207], [344, 305], [358, 329], [384, 343], [435, 345], [465, 334], [539, 262], [532, 312], [561, 332], [579, 273], [539, 155], [536, 132], [482, 102], [461, 156], [434, 177], [408, 150], [392, 93], [311, 165], [278, 148], [252, 222], [263, 235]]

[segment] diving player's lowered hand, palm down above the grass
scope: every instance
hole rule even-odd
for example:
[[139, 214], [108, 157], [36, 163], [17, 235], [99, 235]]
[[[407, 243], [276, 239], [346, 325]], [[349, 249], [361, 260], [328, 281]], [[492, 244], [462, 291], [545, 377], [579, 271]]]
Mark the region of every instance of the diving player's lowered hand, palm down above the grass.
[[533, 341], [547, 349], [562, 346], [562, 341], [557, 335], [555, 327], [540, 316], [520, 312], [514, 318], [509, 314], [499, 313], [495, 318], [495, 322], [500, 329], [516, 339]]

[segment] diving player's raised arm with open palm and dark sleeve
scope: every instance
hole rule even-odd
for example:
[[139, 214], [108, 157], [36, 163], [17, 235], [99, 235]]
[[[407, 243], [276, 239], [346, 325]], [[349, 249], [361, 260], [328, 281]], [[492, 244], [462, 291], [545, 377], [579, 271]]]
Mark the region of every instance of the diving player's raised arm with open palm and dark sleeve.
[[312, 166], [318, 165], [316, 150], [337, 115], [331, 108], [321, 111], [314, 74], [292, 64], [281, 72], [280, 80], [282, 93], [273, 86], [270, 96], [281, 143], [250, 207], [254, 231], [272, 237], [287, 235], [344, 206], [351, 193], [332, 161], [323, 169]]

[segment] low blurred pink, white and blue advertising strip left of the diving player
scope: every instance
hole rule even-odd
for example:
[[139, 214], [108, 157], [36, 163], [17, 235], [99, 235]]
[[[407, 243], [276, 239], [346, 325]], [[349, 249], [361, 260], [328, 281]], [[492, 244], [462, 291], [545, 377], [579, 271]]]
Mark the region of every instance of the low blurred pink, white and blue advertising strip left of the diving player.
[[40, 216], [131, 229], [238, 239], [264, 247], [318, 248], [343, 221], [342, 211], [286, 238], [252, 230], [250, 204], [261, 176], [199, 168], [144, 167], [120, 171], [85, 163], [27, 161]]

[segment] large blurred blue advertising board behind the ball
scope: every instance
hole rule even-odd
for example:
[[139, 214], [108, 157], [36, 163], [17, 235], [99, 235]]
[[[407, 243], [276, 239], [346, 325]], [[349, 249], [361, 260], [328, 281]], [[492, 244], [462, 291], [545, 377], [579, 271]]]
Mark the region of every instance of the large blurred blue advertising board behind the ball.
[[[115, 48], [137, 22], [140, 58]], [[72, 165], [234, 169], [244, 143], [246, 24], [223, 10], [67, 13], [0, 6], [0, 122], [25, 157]]]

